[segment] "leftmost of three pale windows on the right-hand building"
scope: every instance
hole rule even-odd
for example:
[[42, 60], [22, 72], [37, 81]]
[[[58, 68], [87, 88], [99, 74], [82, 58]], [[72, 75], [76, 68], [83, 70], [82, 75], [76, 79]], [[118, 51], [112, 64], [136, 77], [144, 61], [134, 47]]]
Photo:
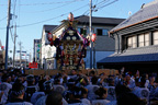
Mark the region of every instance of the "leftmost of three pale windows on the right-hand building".
[[137, 42], [136, 36], [127, 37], [127, 48], [136, 48]]

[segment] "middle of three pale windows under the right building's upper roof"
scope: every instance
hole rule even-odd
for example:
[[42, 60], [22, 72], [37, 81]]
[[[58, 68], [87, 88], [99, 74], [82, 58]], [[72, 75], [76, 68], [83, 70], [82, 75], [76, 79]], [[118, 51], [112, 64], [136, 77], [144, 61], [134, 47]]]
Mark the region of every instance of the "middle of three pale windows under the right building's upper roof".
[[149, 46], [149, 33], [138, 35], [138, 46]]

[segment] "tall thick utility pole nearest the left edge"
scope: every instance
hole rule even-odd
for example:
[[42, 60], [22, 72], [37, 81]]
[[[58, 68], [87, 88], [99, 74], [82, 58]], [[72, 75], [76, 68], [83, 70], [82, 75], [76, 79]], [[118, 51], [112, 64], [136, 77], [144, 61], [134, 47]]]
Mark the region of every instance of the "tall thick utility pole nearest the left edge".
[[5, 39], [5, 66], [4, 69], [8, 69], [8, 45], [9, 45], [9, 28], [10, 28], [10, 16], [11, 16], [11, 0], [8, 0], [8, 23], [7, 23], [7, 39]]

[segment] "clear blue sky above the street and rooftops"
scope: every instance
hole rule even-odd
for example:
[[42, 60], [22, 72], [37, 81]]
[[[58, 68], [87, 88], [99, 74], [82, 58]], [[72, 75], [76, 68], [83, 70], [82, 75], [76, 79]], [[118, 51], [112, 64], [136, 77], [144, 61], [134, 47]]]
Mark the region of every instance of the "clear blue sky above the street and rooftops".
[[[97, 4], [97, 8], [112, 1], [114, 0], [92, 0], [93, 4]], [[140, 9], [143, 3], [151, 1], [154, 0], [117, 0], [108, 7], [99, 9], [97, 12], [93, 12], [92, 15], [126, 19], [128, 18], [129, 11], [134, 14]], [[19, 50], [18, 43], [22, 42], [23, 50], [27, 50], [27, 52], [33, 52], [33, 39], [42, 37], [43, 25], [58, 25], [60, 24], [60, 21], [67, 19], [69, 12], [72, 12], [75, 16], [79, 16], [89, 10], [89, 0], [11, 0], [11, 13], [18, 16], [16, 19], [14, 16], [13, 20], [11, 20], [11, 25], [14, 25], [16, 22], [16, 25], [20, 26], [16, 28], [16, 50]], [[8, 0], [0, 0], [0, 39], [3, 46], [5, 46], [7, 33], [7, 30], [4, 28], [7, 26], [7, 4]], [[86, 14], [88, 12], [86, 12]], [[37, 22], [42, 23], [30, 25]], [[13, 34], [14, 30], [12, 28], [11, 31]], [[13, 50], [11, 33], [9, 36], [9, 50]], [[9, 55], [12, 57], [11, 52], [9, 52]]]

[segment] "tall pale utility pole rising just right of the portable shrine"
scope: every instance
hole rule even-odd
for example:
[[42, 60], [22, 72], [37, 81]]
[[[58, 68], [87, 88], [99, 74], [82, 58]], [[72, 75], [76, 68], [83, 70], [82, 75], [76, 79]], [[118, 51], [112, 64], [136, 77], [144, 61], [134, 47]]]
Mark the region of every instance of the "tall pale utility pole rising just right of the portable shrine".
[[89, 15], [89, 31], [90, 31], [90, 69], [92, 69], [92, 0], [90, 0], [90, 15]]

